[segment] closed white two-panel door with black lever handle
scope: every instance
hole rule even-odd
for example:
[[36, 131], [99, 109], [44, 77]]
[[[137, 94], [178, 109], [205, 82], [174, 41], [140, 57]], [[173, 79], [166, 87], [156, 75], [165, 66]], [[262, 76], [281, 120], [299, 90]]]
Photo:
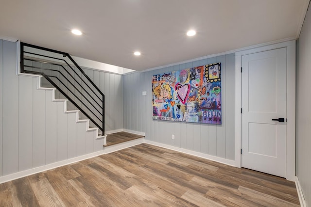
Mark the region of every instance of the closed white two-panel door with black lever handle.
[[242, 56], [241, 159], [242, 167], [286, 177], [286, 48]]

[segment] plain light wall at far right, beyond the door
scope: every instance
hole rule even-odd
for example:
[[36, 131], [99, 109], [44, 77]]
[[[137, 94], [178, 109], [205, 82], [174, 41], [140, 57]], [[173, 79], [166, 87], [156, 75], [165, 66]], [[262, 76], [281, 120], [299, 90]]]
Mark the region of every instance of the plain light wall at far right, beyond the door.
[[307, 206], [311, 206], [311, 9], [297, 44], [296, 175]]

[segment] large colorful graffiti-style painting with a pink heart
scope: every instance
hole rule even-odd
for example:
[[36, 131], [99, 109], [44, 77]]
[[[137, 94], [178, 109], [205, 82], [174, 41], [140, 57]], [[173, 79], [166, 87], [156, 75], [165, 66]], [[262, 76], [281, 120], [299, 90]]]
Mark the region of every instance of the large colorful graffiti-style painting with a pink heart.
[[221, 64], [152, 77], [153, 119], [221, 124]]

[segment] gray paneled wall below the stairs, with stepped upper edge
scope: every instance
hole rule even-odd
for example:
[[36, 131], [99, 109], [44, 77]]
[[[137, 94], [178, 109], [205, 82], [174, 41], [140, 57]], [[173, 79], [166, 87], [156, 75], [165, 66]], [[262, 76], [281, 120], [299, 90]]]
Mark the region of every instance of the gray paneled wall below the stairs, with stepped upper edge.
[[16, 48], [0, 40], [0, 176], [103, 150], [104, 140], [64, 113], [64, 102], [52, 102], [51, 90], [16, 75]]

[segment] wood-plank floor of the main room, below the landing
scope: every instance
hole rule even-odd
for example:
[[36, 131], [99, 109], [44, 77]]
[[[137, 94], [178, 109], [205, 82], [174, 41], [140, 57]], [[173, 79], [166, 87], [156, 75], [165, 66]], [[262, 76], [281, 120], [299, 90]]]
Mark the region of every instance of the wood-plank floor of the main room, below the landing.
[[139, 144], [0, 184], [0, 207], [298, 207], [294, 182]]

